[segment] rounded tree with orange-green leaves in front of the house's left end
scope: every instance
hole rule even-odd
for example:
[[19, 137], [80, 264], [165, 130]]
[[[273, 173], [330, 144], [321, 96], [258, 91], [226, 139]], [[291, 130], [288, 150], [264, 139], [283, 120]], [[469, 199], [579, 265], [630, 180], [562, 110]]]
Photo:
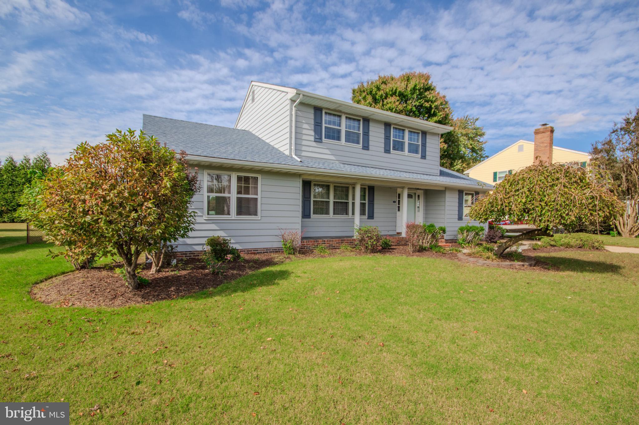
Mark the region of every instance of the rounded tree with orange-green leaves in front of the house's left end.
[[32, 219], [47, 240], [75, 261], [117, 254], [130, 289], [138, 288], [137, 262], [144, 252], [163, 252], [193, 228], [189, 204], [196, 178], [183, 154], [176, 158], [143, 131], [117, 130], [105, 143], [82, 143], [40, 184]]

